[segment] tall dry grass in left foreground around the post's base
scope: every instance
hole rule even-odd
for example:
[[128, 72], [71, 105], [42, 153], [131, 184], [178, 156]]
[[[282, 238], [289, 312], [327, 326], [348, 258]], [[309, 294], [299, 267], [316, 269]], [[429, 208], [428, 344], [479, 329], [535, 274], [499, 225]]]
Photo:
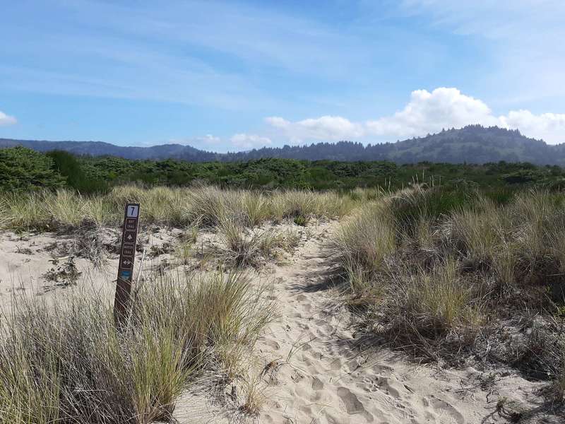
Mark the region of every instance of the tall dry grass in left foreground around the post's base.
[[241, 273], [150, 281], [120, 333], [100, 298], [22, 298], [1, 326], [0, 422], [169, 420], [205, 371], [237, 374], [270, 316]]

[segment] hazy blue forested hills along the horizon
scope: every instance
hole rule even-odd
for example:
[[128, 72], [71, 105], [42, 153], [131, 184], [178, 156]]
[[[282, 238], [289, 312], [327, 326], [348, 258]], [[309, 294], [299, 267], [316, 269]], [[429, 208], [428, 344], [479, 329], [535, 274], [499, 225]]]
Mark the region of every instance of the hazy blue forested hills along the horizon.
[[[564, 134], [565, 141], [565, 134]], [[443, 163], [530, 162], [538, 165], [565, 165], [565, 144], [549, 146], [530, 139], [518, 130], [485, 128], [480, 125], [448, 129], [396, 143], [364, 146], [340, 141], [309, 146], [261, 148], [239, 153], [213, 153], [191, 146], [165, 144], [152, 147], [114, 146], [100, 141], [32, 141], [0, 139], [1, 147], [26, 146], [37, 151], [64, 150], [77, 155], [112, 155], [128, 159], [179, 159], [190, 162], [288, 158], [304, 160], [391, 160], [396, 163], [423, 161]]]

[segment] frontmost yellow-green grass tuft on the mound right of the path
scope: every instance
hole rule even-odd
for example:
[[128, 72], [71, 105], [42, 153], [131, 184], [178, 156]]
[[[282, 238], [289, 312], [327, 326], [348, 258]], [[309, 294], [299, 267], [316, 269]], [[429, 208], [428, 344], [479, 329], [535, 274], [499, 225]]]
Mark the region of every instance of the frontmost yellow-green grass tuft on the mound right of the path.
[[381, 317], [396, 346], [418, 358], [438, 360], [443, 355], [454, 363], [460, 350], [474, 350], [487, 324], [487, 310], [480, 285], [467, 281], [458, 266], [456, 259], [446, 258], [432, 269], [396, 270], [387, 291], [391, 300], [383, 304]]

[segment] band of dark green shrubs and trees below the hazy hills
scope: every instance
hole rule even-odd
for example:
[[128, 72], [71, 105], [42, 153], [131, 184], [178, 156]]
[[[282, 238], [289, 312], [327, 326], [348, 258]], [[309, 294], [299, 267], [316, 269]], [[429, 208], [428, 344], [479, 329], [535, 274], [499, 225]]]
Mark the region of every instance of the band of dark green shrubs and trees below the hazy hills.
[[129, 160], [112, 156], [74, 156], [64, 151], [38, 153], [21, 146], [0, 149], [0, 190], [69, 187], [83, 194], [106, 192], [119, 184], [186, 186], [206, 182], [220, 187], [260, 189], [399, 189], [414, 181], [458, 187], [549, 187], [565, 185], [557, 165], [484, 165], [392, 162], [337, 162], [265, 158], [247, 162], [190, 163], [180, 160]]

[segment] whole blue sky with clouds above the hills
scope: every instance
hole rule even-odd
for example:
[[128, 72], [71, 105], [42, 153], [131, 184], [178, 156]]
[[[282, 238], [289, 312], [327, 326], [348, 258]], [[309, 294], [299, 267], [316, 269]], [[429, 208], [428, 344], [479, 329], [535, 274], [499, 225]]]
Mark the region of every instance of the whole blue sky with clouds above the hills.
[[237, 151], [565, 142], [565, 2], [3, 1], [0, 137]]

